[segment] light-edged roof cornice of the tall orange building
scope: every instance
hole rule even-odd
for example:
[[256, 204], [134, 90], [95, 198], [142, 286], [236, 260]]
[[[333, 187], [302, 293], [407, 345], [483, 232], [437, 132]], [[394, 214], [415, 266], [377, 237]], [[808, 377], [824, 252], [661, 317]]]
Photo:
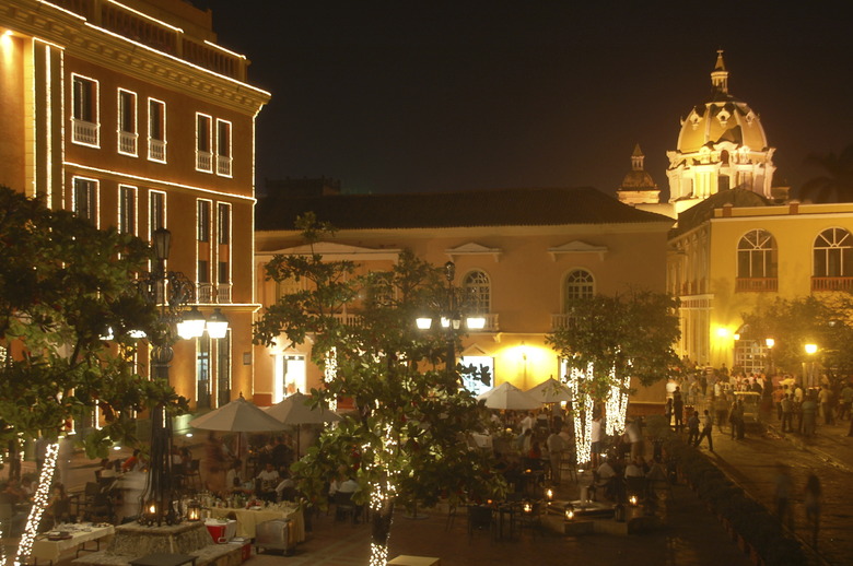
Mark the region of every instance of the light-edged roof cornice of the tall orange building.
[[250, 116], [270, 98], [266, 91], [98, 27], [49, 2], [0, 2], [0, 22], [62, 47], [67, 56], [194, 97], [203, 96]]

